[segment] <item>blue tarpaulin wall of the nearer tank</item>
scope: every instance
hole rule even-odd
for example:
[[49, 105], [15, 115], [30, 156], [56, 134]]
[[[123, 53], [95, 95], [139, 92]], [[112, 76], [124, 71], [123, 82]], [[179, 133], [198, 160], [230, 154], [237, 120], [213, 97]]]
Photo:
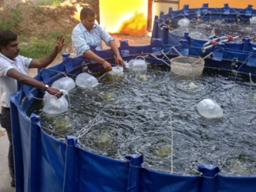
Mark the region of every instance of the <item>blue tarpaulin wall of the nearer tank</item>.
[[[160, 47], [159, 42], [152, 45]], [[119, 50], [130, 56], [129, 53], [153, 51], [154, 47], [130, 47], [122, 42]], [[108, 57], [105, 51], [96, 53]], [[51, 69], [65, 72], [74, 69], [76, 61], [77, 58], [66, 58]], [[42, 73], [44, 71], [40, 70], [40, 77]], [[50, 79], [55, 79], [55, 75], [48, 73]], [[141, 155], [127, 154], [126, 161], [114, 160], [81, 149], [76, 137], [66, 136], [66, 141], [58, 141], [42, 130], [38, 115], [28, 117], [21, 109], [26, 94], [29, 94], [28, 88], [22, 86], [20, 92], [10, 96], [18, 192], [240, 192], [256, 189], [256, 177], [224, 177], [218, 175], [220, 170], [213, 165], [199, 165], [202, 175], [197, 176], [161, 173], [143, 168]], [[30, 102], [32, 104], [32, 100]]]

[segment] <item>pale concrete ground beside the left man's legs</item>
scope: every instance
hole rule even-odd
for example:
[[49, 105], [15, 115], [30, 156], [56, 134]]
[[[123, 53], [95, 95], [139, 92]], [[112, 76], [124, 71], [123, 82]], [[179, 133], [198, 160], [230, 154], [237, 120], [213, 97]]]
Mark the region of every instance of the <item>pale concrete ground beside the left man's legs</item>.
[[8, 168], [9, 141], [6, 130], [0, 126], [0, 191], [14, 192], [15, 188], [10, 186], [11, 177]]

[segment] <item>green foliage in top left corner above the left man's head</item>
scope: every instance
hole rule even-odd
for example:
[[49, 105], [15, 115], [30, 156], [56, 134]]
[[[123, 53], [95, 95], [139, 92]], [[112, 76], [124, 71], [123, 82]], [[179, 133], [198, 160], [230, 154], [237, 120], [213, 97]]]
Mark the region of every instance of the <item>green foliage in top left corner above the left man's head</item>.
[[6, 17], [2, 17], [0, 20], [0, 31], [2, 30], [22, 30], [24, 25], [22, 24], [23, 13], [21, 11], [20, 4], [17, 4], [14, 9], [10, 6], [6, 6], [9, 9], [9, 14]]

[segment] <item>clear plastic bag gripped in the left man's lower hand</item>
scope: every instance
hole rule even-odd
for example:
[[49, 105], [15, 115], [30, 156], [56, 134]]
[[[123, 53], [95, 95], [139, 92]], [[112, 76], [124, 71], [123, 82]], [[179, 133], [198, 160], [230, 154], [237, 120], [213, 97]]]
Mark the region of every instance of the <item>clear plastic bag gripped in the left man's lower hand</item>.
[[44, 106], [43, 111], [48, 114], [61, 114], [68, 111], [69, 103], [65, 96], [68, 94], [66, 90], [61, 90], [63, 96], [58, 98], [57, 96], [52, 96], [48, 92], [45, 92], [43, 96]]

